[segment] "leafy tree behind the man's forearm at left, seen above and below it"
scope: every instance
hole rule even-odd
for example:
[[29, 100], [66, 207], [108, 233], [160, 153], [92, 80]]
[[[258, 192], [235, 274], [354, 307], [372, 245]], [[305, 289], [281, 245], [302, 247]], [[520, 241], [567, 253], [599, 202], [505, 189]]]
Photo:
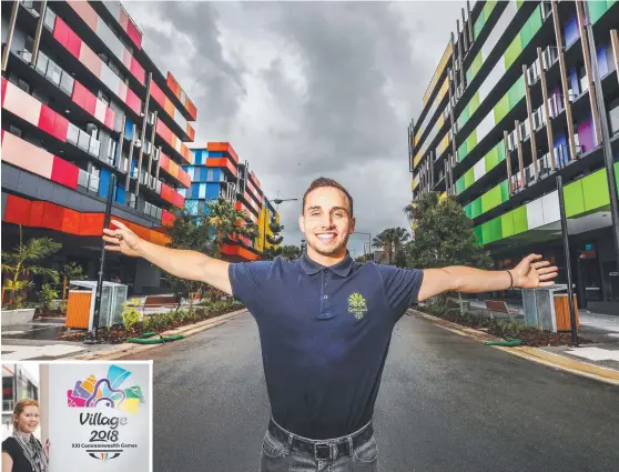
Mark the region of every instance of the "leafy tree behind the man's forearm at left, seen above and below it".
[[[186, 249], [212, 255], [215, 252], [215, 243], [213, 241], [212, 227], [209, 224], [207, 217], [193, 217], [186, 211], [177, 211], [175, 219], [168, 227], [168, 235], [171, 241], [169, 248]], [[195, 280], [186, 280], [174, 277], [170, 273], [164, 275], [170, 287], [174, 291], [176, 302], [180, 309], [184, 298], [189, 301], [189, 311], [193, 312], [193, 302], [196, 294], [202, 294], [204, 283]]]

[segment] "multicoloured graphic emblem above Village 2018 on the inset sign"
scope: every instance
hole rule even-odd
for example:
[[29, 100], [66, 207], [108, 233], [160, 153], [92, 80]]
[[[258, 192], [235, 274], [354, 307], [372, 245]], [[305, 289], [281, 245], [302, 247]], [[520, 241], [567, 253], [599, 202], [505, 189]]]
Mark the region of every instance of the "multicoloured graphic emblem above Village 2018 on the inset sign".
[[122, 388], [131, 372], [110, 365], [108, 376], [97, 379], [91, 374], [85, 380], [78, 380], [73, 390], [67, 391], [67, 402], [71, 408], [97, 408], [99, 405], [136, 414], [140, 403], [145, 403], [139, 385]]

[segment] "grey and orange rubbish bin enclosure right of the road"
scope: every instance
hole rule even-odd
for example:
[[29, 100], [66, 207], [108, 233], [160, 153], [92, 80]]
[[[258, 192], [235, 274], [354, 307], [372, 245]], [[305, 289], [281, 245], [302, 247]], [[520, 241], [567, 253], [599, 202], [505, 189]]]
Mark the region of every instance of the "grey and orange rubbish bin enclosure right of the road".
[[[578, 308], [576, 307], [576, 325]], [[566, 284], [555, 284], [541, 289], [524, 289], [522, 307], [525, 311], [525, 325], [544, 331], [570, 331], [570, 317]]]

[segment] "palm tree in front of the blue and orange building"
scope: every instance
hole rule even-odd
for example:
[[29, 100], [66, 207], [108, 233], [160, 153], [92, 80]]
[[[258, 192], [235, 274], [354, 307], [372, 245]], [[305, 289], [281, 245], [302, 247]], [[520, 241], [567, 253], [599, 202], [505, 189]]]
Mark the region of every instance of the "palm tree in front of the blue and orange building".
[[209, 224], [215, 231], [215, 257], [220, 258], [226, 240], [256, 239], [257, 225], [246, 221], [246, 213], [236, 210], [233, 202], [219, 198], [209, 203]]

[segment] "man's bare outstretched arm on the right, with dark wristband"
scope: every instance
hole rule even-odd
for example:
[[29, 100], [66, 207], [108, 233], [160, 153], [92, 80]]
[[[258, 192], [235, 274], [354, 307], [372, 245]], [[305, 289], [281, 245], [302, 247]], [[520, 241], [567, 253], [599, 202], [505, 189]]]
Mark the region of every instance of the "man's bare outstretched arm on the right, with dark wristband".
[[486, 271], [465, 265], [425, 269], [417, 299], [424, 301], [443, 292], [483, 293], [510, 288], [537, 289], [552, 285], [558, 269], [540, 259], [539, 254], [530, 254], [514, 269], [501, 271]]

